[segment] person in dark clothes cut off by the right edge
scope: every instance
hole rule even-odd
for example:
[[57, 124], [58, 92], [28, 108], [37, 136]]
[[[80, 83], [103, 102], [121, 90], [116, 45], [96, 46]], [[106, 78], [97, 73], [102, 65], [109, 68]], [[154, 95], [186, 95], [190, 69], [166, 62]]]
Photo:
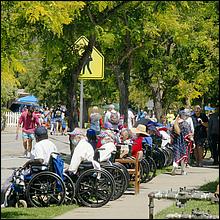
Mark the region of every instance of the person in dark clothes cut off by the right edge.
[[208, 136], [211, 141], [211, 151], [213, 155], [213, 165], [219, 164], [219, 105], [216, 106], [216, 111], [210, 116], [208, 124]]

